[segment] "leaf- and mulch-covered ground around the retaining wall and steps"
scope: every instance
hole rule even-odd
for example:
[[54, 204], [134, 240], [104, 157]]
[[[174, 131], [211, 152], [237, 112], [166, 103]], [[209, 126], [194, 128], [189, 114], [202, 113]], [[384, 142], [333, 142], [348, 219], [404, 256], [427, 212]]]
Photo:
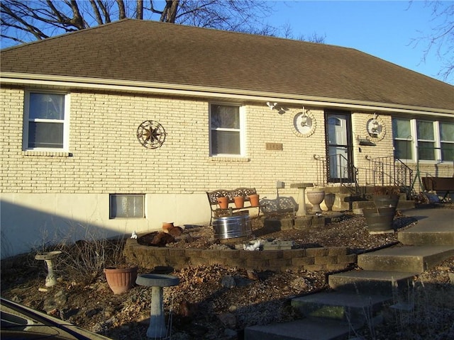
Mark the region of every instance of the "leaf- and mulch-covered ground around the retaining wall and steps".
[[[262, 229], [254, 220], [253, 231]], [[399, 215], [394, 227], [408, 228], [414, 220]], [[185, 234], [186, 233], [186, 234]], [[347, 215], [339, 222], [309, 231], [285, 230], [261, 234], [261, 238], [293, 240], [296, 246], [348, 246], [357, 252], [389, 246], [397, 233], [370, 235], [362, 216]], [[184, 232], [175, 244], [210, 248], [212, 229]], [[53, 288], [44, 287], [42, 261], [34, 254], [17, 256], [1, 263], [1, 295], [37, 310], [60, 317], [112, 339], [148, 339], [151, 290], [136, 286], [122, 295], [111, 293], [104, 275], [87, 279], [71, 268], [57, 266], [60, 279]], [[152, 268], [140, 268], [149, 273]], [[411, 295], [414, 307], [406, 314], [389, 310], [382, 326], [362, 331], [362, 339], [453, 339], [454, 258], [415, 278]], [[242, 339], [243, 329], [254, 324], [286, 322], [299, 317], [290, 300], [328, 289], [326, 272], [253, 272], [222, 266], [188, 267], [173, 271], [175, 287], [164, 288], [164, 308], [170, 321], [170, 339]], [[85, 278], [85, 279], [84, 279]], [[453, 278], [454, 279], [454, 278]], [[421, 304], [421, 301], [423, 302]], [[407, 301], [408, 302], [408, 301]], [[421, 306], [422, 305], [422, 306]]]

